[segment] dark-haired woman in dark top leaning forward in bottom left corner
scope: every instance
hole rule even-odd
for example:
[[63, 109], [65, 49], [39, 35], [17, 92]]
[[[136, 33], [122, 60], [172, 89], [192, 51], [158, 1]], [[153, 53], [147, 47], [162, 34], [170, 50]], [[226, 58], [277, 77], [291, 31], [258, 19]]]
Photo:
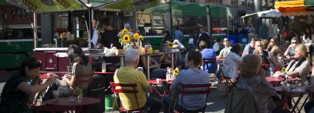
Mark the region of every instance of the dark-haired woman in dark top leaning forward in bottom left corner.
[[[12, 76], [5, 83], [0, 102], [1, 113], [32, 113], [27, 104], [33, 104], [35, 94], [54, 84], [54, 78], [46, 83], [38, 84], [41, 62], [34, 57], [26, 58], [20, 67], [19, 73]], [[33, 85], [27, 83], [33, 80]]]

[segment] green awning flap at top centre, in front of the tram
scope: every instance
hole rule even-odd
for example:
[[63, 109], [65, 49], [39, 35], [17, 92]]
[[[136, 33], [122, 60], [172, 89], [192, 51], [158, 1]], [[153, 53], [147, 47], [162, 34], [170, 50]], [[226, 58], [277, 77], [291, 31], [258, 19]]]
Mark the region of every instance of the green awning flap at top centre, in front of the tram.
[[94, 9], [111, 10], [111, 11], [141, 11], [173, 0], [115, 0]]

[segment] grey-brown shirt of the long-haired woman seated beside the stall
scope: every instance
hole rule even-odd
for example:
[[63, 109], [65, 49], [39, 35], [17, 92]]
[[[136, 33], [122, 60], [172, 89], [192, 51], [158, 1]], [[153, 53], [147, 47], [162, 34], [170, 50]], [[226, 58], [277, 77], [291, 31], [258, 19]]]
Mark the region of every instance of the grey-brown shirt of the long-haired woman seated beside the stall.
[[[89, 62], [87, 66], [78, 64], [77, 62], [75, 62], [73, 64], [72, 74], [75, 74], [75, 76], [93, 74], [92, 65]], [[90, 78], [78, 78], [78, 80], [89, 80], [89, 79]], [[79, 83], [79, 84], [75, 84], [75, 86], [85, 90], [88, 88], [88, 83]]]

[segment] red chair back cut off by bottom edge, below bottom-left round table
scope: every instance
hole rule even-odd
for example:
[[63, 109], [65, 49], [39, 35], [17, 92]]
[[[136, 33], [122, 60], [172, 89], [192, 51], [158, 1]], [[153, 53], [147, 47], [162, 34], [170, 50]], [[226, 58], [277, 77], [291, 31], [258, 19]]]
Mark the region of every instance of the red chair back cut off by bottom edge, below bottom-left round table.
[[34, 111], [39, 113], [39, 111], [50, 111], [51, 113], [56, 113], [55, 111], [74, 113], [76, 107], [75, 106], [34, 106]]

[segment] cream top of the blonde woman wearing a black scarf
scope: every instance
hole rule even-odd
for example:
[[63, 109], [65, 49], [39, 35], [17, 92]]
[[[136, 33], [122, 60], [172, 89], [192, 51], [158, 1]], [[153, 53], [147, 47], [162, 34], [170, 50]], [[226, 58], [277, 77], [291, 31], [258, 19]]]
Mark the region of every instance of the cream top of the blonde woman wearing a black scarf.
[[[292, 60], [291, 62], [294, 62], [294, 61], [295, 60]], [[299, 61], [296, 59], [295, 63], [292, 66], [291, 66], [291, 62], [287, 66], [286, 71], [292, 72], [293, 69], [297, 70], [300, 73], [301, 86], [304, 86], [306, 77], [310, 73], [310, 63], [308, 61], [304, 61], [299, 67], [295, 67]]]

